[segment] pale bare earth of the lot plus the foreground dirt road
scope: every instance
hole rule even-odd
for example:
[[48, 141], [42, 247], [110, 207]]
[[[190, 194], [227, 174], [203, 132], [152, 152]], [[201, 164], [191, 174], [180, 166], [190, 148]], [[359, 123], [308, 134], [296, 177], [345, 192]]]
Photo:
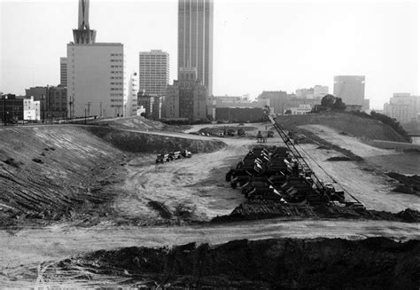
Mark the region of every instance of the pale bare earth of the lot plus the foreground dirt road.
[[[196, 126], [191, 131], [207, 126]], [[265, 124], [255, 127], [265, 129]], [[303, 149], [302, 152], [307, 153], [307, 161], [321, 179], [339, 184], [368, 208], [391, 212], [405, 208], [420, 210], [418, 197], [391, 192], [395, 182], [390, 181], [389, 177], [377, 170], [362, 170], [367, 166], [375, 166], [369, 163], [370, 157], [392, 155], [393, 152], [362, 144], [354, 137], [339, 135], [326, 127], [311, 125], [304, 128], [315, 130], [320, 137], [352, 150], [367, 161], [326, 161], [340, 153], [316, 149], [317, 145], [299, 145]], [[149, 133], [206, 138], [176, 132]], [[119, 218], [159, 218], [159, 212], [148, 206], [149, 201], [159, 201], [171, 211], [179, 204], [188, 204], [195, 208], [194, 219], [201, 221], [208, 221], [214, 216], [228, 215], [245, 198], [240, 190], [232, 190], [229, 187], [224, 181], [224, 175], [250, 146], [256, 145], [256, 142], [248, 137], [220, 140], [228, 145], [226, 149], [215, 153], [195, 154], [191, 159], [156, 165], [155, 156], [142, 154], [128, 161], [123, 166], [123, 169], [127, 170], [125, 180], [114, 187], [119, 195], [113, 201], [112, 207], [120, 214]], [[275, 137], [268, 139], [268, 145], [283, 145], [283, 142]], [[243, 223], [152, 227], [115, 226], [114, 222], [110, 218], [99, 226], [89, 228], [58, 224], [43, 228], [0, 230], [0, 286], [40, 286], [39, 281], [35, 285], [36, 281], [25, 282], [25, 278], [19, 275], [26, 267], [98, 249], [160, 247], [191, 241], [216, 244], [232, 239], [282, 237], [362, 239], [381, 236], [401, 240], [420, 238], [416, 223], [382, 221], [269, 219]]]

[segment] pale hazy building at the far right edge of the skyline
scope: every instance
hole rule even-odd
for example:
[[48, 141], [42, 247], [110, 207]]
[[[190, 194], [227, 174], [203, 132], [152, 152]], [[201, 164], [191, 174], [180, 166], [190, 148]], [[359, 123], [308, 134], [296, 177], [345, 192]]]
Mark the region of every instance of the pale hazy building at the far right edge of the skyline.
[[384, 105], [384, 114], [396, 119], [401, 124], [417, 121], [420, 106], [420, 97], [409, 93], [394, 93], [389, 103]]

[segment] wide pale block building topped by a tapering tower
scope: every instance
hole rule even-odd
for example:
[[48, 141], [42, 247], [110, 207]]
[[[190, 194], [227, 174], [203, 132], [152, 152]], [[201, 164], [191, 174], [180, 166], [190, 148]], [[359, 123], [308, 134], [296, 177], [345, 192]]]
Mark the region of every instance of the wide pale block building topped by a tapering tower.
[[74, 43], [67, 44], [67, 98], [69, 113], [98, 117], [124, 115], [127, 86], [124, 81], [122, 43], [96, 43], [96, 31], [89, 29], [89, 0], [80, 0], [79, 29]]

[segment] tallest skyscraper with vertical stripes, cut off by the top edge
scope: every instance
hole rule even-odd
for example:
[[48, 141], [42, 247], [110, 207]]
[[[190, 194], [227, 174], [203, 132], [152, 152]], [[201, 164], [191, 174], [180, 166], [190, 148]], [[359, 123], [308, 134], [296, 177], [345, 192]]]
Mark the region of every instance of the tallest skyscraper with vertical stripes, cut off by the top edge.
[[213, 0], [179, 0], [178, 79], [181, 67], [195, 67], [213, 94]]

